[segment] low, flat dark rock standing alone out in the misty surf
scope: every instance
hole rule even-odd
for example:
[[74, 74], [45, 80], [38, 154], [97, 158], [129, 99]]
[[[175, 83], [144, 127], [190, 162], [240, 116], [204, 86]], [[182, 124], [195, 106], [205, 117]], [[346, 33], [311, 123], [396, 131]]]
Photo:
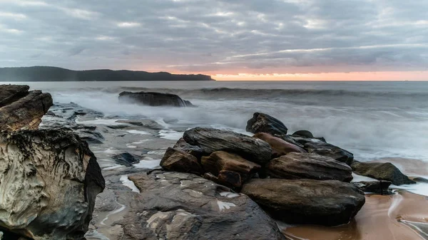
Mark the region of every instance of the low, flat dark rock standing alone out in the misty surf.
[[183, 100], [178, 95], [170, 93], [151, 93], [151, 92], [122, 92], [119, 94], [119, 100], [123, 103], [137, 103], [153, 107], [194, 107], [188, 100]]

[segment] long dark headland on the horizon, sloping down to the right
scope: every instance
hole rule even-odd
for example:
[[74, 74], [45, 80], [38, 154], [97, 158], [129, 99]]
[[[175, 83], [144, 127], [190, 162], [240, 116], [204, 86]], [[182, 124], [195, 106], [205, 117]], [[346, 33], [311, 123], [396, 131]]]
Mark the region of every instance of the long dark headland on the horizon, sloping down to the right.
[[209, 75], [148, 73], [144, 71], [113, 71], [108, 69], [73, 71], [56, 67], [0, 68], [0, 81], [161, 81], [161, 80], [213, 80]]

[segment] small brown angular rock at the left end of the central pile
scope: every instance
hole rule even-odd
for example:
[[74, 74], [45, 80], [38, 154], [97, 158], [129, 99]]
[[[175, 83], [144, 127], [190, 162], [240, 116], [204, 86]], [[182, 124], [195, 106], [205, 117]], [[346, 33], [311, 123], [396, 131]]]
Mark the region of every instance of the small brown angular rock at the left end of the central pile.
[[202, 167], [193, 155], [173, 147], [168, 147], [161, 160], [161, 167], [172, 172], [200, 174]]

